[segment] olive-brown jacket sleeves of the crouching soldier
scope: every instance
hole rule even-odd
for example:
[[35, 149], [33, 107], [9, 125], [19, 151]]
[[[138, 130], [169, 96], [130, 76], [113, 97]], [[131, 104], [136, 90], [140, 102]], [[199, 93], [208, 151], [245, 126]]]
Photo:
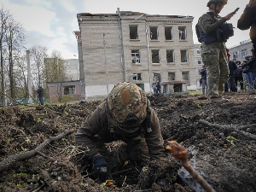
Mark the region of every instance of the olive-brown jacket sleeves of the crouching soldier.
[[[150, 110], [152, 131], [145, 131], [143, 136], [148, 145], [148, 153], [151, 159], [160, 160], [165, 157], [163, 146], [164, 142], [160, 132], [159, 119], [157, 118], [154, 109], [150, 108]], [[80, 148], [90, 149], [90, 152], [88, 152], [90, 158], [98, 152], [98, 148], [96, 147], [96, 135], [98, 135], [105, 143], [120, 140], [116, 137], [111, 137], [108, 129], [108, 112], [106, 102], [102, 102], [102, 104], [100, 104], [96, 110], [87, 117], [75, 136], [76, 142]]]

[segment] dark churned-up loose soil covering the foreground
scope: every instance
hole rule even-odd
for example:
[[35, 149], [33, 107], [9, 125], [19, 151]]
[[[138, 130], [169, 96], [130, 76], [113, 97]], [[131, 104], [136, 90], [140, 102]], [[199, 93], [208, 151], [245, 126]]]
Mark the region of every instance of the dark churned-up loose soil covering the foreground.
[[[189, 162], [218, 192], [256, 191], [255, 95], [225, 95], [212, 103], [206, 96], [148, 96], [165, 140], [189, 151]], [[161, 161], [126, 161], [112, 170], [114, 183], [99, 183], [74, 135], [100, 104], [79, 102], [45, 108], [0, 110], [0, 160], [37, 148], [49, 137], [74, 129], [49, 143], [41, 154], [17, 161], [0, 174], [0, 191], [204, 191], [168, 151]], [[203, 121], [205, 120], [205, 121]], [[224, 126], [226, 125], [226, 126]], [[116, 143], [115, 143], [116, 144]], [[111, 143], [108, 143], [111, 145]], [[86, 154], [86, 153], [85, 153]]]

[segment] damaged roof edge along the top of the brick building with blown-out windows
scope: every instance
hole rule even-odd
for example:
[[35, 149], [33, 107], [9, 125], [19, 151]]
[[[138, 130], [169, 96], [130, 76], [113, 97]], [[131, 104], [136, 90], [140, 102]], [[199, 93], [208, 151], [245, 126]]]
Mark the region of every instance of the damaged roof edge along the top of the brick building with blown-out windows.
[[[170, 17], [170, 18], [191, 18], [194, 19], [194, 16], [184, 16], [184, 15], [147, 15], [144, 13], [140, 13], [140, 12], [131, 12], [131, 11], [120, 11], [119, 12], [120, 15], [144, 15], [147, 17]], [[77, 18], [81, 17], [81, 16], [116, 16], [119, 14], [90, 14], [90, 13], [80, 13], [77, 14]]]

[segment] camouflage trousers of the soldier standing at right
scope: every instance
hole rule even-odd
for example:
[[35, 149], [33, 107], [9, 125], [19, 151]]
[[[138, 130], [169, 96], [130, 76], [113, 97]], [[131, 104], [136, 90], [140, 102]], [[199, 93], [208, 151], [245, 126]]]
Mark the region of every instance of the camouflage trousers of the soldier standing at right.
[[211, 98], [224, 93], [224, 83], [229, 79], [229, 61], [224, 43], [201, 44], [201, 57], [207, 66], [207, 95]]

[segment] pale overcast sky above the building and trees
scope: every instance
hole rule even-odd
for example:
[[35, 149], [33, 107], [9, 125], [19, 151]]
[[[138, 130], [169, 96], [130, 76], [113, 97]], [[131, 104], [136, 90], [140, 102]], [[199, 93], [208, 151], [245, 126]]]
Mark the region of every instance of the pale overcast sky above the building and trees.
[[[148, 15], [190, 15], [193, 21], [194, 42], [195, 24], [198, 18], [207, 12], [208, 0], [0, 0], [3, 7], [15, 16], [15, 20], [26, 29], [27, 49], [33, 45], [43, 45], [49, 49], [61, 51], [64, 59], [78, 58], [78, 47], [73, 31], [79, 30], [77, 14], [115, 14], [121, 11], [142, 12]], [[225, 16], [240, 8], [229, 20], [236, 27], [237, 20], [249, 0], [230, 0], [220, 15]], [[249, 39], [249, 30], [235, 28], [235, 36], [227, 42], [227, 47], [240, 44]]]

